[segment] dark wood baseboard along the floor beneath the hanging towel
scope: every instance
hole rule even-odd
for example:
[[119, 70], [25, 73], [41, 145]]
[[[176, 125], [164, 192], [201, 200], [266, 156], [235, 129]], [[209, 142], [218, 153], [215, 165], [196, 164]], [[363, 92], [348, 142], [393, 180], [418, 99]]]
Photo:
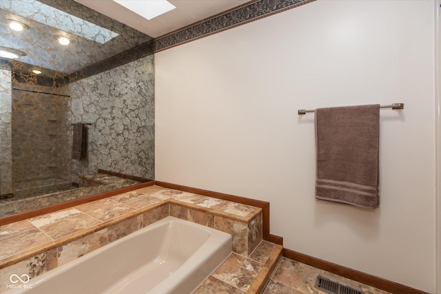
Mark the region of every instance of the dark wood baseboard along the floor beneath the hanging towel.
[[339, 264], [334, 264], [333, 262], [328, 262], [326, 260], [320, 260], [319, 258], [314, 258], [311, 255], [306, 255], [297, 251], [292, 251], [290, 249], [284, 248], [282, 255], [290, 260], [296, 260], [302, 264], [308, 264], [314, 266], [317, 269], [322, 269], [324, 271], [329, 271], [336, 275], [342, 277], [347, 277], [348, 279], [360, 282], [362, 284], [367, 284], [373, 286], [383, 291], [390, 293], [407, 293], [407, 294], [429, 294], [427, 292], [418, 290], [416, 288], [411, 288], [409, 286], [399, 284], [397, 282], [392, 282], [382, 277], [377, 277], [375, 275], [369, 275], [369, 273], [363, 273], [361, 271], [356, 271], [355, 269], [350, 269], [346, 266], [341, 266]]

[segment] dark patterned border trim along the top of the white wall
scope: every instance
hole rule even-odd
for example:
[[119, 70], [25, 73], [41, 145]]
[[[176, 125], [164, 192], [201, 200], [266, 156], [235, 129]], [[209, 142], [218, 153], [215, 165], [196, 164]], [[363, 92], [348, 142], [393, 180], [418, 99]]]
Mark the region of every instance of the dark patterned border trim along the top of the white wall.
[[316, 0], [254, 0], [154, 39], [154, 52], [201, 39]]

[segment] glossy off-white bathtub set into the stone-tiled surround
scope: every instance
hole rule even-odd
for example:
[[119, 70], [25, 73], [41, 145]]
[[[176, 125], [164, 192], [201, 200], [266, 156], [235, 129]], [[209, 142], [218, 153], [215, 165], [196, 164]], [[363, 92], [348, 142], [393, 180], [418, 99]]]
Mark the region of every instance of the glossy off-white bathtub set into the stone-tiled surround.
[[231, 235], [168, 216], [6, 293], [191, 293], [231, 252]]

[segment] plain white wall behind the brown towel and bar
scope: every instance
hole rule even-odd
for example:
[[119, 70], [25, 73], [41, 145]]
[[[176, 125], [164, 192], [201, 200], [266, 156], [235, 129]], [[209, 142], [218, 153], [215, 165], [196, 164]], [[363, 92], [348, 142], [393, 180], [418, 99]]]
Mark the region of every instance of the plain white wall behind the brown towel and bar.
[[[155, 54], [156, 180], [271, 202], [286, 248], [435, 292], [433, 1], [317, 1]], [[380, 112], [380, 208], [314, 199], [314, 114]]]

